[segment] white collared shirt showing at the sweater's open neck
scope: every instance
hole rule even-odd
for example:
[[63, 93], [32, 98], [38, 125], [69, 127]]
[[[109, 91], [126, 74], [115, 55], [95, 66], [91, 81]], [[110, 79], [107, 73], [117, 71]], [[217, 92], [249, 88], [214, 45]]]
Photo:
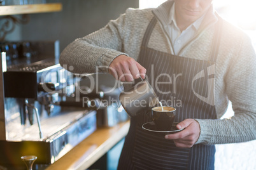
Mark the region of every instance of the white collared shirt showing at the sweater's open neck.
[[176, 23], [174, 6], [175, 3], [171, 7], [170, 15], [168, 18], [169, 24], [166, 25], [166, 30], [167, 34], [169, 34], [169, 37], [171, 37], [171, 43], [173, 44], [174, 54], [178, 55], [181, 48], [183, 48], [183, 46], [185, 46], [185, 44], [187, 44], [187, 42], [193, 39], [193, 37], [195, 36], [197, 30], [199, 29], [203, 21], [204, 15], [197, 19], [194, 23], [189, 25], [187, 29], [181, 32]]

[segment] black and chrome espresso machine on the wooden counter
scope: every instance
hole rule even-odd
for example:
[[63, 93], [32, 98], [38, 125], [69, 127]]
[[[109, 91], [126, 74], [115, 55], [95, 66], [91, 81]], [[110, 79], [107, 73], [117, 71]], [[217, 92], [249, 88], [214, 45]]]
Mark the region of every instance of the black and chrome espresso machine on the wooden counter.
[[81, 75], [61, 67], [58, 58], [58, 41], [1, 43], [1, 166], [24, 164], [24, 155], [52, 164], [96, 130], [102, 96], [78, 101]]

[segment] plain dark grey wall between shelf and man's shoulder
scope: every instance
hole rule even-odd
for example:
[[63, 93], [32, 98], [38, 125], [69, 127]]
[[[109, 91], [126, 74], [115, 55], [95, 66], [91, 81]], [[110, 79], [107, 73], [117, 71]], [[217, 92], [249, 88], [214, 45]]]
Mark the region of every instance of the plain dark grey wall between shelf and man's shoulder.
[[57, 40], [60, 51], [78, 37], [86, 36], [129, 7], [138, 8], [138, 0], [48, 0], [62, 3], [62, 11], [31, 14], [31, 21], [18, 25], [7, 40]]

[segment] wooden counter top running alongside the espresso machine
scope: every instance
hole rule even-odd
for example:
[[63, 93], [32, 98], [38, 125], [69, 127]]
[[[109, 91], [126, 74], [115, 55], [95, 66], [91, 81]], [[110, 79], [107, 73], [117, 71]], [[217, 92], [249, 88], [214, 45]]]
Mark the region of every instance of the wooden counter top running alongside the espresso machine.
[[127, 121], [111, 128], [98, 128], [46, 170], [87, 169], [126, 136], [129, 126]]

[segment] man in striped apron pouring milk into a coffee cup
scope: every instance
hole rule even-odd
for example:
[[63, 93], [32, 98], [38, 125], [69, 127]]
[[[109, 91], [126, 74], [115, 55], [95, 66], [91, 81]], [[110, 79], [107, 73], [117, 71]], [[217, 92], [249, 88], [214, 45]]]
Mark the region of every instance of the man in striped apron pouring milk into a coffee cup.
[[[185, 129], [157, 136], [141, 128], [150, 121], [145, 114], [132, 117], [118, 169], [214, 169], [214, 144], [256, 139], [255, 51], [212, 0], [129, 9], [69, 44], [60, 63], [78, 73], [99, 67], [120, 81], [148, 77], [160, 101], [172, 99], [176, 127]], [[235, 115], [220, 120], [229, 100]]]

